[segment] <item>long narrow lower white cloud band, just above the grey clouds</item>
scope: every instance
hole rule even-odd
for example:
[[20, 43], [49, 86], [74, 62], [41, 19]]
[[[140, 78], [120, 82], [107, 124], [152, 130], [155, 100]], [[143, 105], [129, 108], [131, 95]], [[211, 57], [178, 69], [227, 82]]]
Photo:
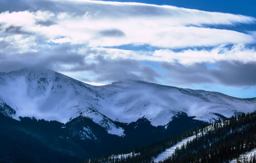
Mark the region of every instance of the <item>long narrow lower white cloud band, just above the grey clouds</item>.
[[235, 44], [231, 48], [228, 48], [225, 45], [220, 45], [210, 50], [187, 49], [180, 52], [174, 52], [169, 49], [160, 49], [153, 52], [121, 50], [115, 48], [94, 49], [97, 50], [98, 53], [90, 55], [90, 58], [106, 53], [105, 57], [111, 59], [122, 58], [140, 61], [178, 62], [184, 65], [203, 62], [214, 63], [218, 61], [240, 61], [242, 63], [256, 61], [256, 49], [248, 48], [244, 46], [244, 44]]

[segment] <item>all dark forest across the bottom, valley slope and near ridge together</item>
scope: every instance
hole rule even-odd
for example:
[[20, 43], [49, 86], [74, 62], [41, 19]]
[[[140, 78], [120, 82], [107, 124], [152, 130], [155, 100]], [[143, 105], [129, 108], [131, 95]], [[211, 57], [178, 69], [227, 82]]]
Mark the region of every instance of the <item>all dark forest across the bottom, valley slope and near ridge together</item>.
[[[193, 117], [179, 115], [173, 117], [166, 127], [154, 127], [146, 118], [129, 124], [114, 122], [125, 129], [124, 137], [108, 134], [103, 127], [84, 116], [66, 124], [34, 117], [20, 117], [17, 121], [0, 116], [1, 162], [88, 162], [91, 158], [93, 163], [149, 163], [167, 148], [193, 135], [196, 135], [193, 140], [177, 148], [162, 162], [230, 162], [256, 147], [255, 111], [216, 123], [194, 121]], [[182, 122], [192, 129], [176, 134], [182, 131], [178, 129]], [[171, 129], [176, 135], [170, 134]], [[112, 154], [130, 152], [139, 155], [109, 158]], [[248, 163], [254, 163], [253, 158]]]

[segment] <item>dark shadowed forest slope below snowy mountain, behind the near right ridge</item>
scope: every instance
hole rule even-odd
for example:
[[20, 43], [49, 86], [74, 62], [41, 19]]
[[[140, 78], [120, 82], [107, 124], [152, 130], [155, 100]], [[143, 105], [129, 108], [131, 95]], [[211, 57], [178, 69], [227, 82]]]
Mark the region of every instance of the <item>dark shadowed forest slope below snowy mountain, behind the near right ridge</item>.
[[[0, 161], [3, 162], [82, 162], [89, 158], [133, 151], [201, 126], [204, 122], [187, 115], [173, 117], [168, 126], [154, 127], [146, 118], [118, 123], [125, 136], [109, 134], [92, 119], [78, 116], [66, 124], [58, 121], [19, 117], [20, 121], [0, 114]], [[177, 123], [186, 126], [179, 128]], [[188, 125], [185, 125], [188, 124]]]

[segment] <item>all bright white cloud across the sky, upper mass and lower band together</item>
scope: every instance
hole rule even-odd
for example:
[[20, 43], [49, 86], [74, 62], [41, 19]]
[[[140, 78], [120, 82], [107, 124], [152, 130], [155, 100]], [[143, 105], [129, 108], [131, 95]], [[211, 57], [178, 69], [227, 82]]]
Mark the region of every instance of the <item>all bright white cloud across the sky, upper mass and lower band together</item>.
[[[0, 40], [9, 43], [7, 47], [0, 49], [0, 52], [8, 55], [39, 52], [38, 54], [45, 55], [52, 47], [50, 43], [70, 43], [74, 45], [72, 50], [81, 55], [85, 55], [88, 50], [96, 51], [86, 54], [87, 62], [88, 60], [91, 62], [96, 55], [111, 59], [170, 63], [177, 61], [181, 64], [221, 60], [236, 60], [244, 63], [256, 61], [256, 50], [245, 46], [255, 43], [255, 32], [242, 33], [217, 29], [215, 26], [253, 24], [256, 19], [252, 17], [142, 3], [93, 0], [53, 0], [52, 2], [58, 4], [56, 5], [58, 7], [68, 3], [72, 5], [74, 11], [58, 11], [56, 7], [56, 11], [0, 13], [2, 25]], [[49, 21], [52, 24], [44, 26], [38, 21]], [[215, 28], [209, 28], [208, 25]], [[4, 29], [10, 26], [19, 27], [20, 32], [6, 32]], [[83, 44], [86, 48], [78, 49], [75, 44]], [[146, 52], [102, 48], [127, 44], [149, 45], [159, 47], [160, 50]], [[227, 48], [224, 45], [234, 46]], [[198, 50], [195, 47], [214, 48]], [[186, 50], [180, 52], [173, 50], [178, 48]], [[51, 55], [54, 54], [47, 54], [47, 56]], [[44, 57], [38, 56], [38, 58]]]

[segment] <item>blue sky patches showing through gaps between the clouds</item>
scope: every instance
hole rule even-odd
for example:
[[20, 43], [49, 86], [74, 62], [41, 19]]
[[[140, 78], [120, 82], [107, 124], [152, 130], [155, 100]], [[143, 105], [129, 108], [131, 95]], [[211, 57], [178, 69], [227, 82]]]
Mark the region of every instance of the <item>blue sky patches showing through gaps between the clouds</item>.
[[[128, 1], [128, 0], [121, 0], [119, 2], [138, 2], [138, 3], [147, 3], [147, 4], [157, 4], [157, 5], [172, 5], [177, 7], [184, 7], [188, 9], [197, 9], [203, 11], [212, 11], [212, 12], [224, 12], [224, 13], [232, 13], [232, 14], [241, 14], [256, 17], [255, 6], [256, 1], [253, 0], [245, 0], [239, 1], [234, 0], [232, 3], [230, 1], [223, 1], [223, 0], [216, 0], [212, 1], [205, 1], [205, 0], [138, 0], [138, 1]], [[239, 26], [218, 26], [218, 28], [222, 29], [231, 29], [234, 31], [255, 31], [256, 24], [250, 25], [239, 25]], [[249, 46], [255, 46], [255, 44], [251, 44]], [[145, 50], [148, 46], [132, 46], [132, 45], [124, 45], [116, 48], [120, 49], [134, 49], [134, 50]], [[200, 48], [200, 47], [197, 47]], [[205, 47], [204, 47], [205, 48]], [[158, 49], [157, 47], [151, 47], [151, 50]], [[176, 51], [180, 51], [183, 49], [175, 49]], [[166, 73], [166, 70], [161, 69], [157, 63], [150, 63], [150, 62], [143, 62], [145, 65], [150, 65], [160, 73]], [[214, 63], [206, 63], [206, 66], [209, 69], [217, 69]], [[165, 81], [166, 79], [160, 80], [161, 84], [164, 85], [171, 85], [169, 82]], [[172, 85], [171, 85], [172, 86]], [[182, 86], [182, 85], [181, 85]], [[187, 87], [184, 85], [184, 87]], [[240, 97], [240, 98], [252, 98], [256, 97], [256, 89], [254, 87], [237, 87], [237, 86], [223, 86], [219, 84], [198, 84], [198, 85], [189, 85], [188, 88], [192, 89], [202, 89], [202, 90], [209, 90], [209, 91], [216, 91], [225, 93], [231, 96]]]

